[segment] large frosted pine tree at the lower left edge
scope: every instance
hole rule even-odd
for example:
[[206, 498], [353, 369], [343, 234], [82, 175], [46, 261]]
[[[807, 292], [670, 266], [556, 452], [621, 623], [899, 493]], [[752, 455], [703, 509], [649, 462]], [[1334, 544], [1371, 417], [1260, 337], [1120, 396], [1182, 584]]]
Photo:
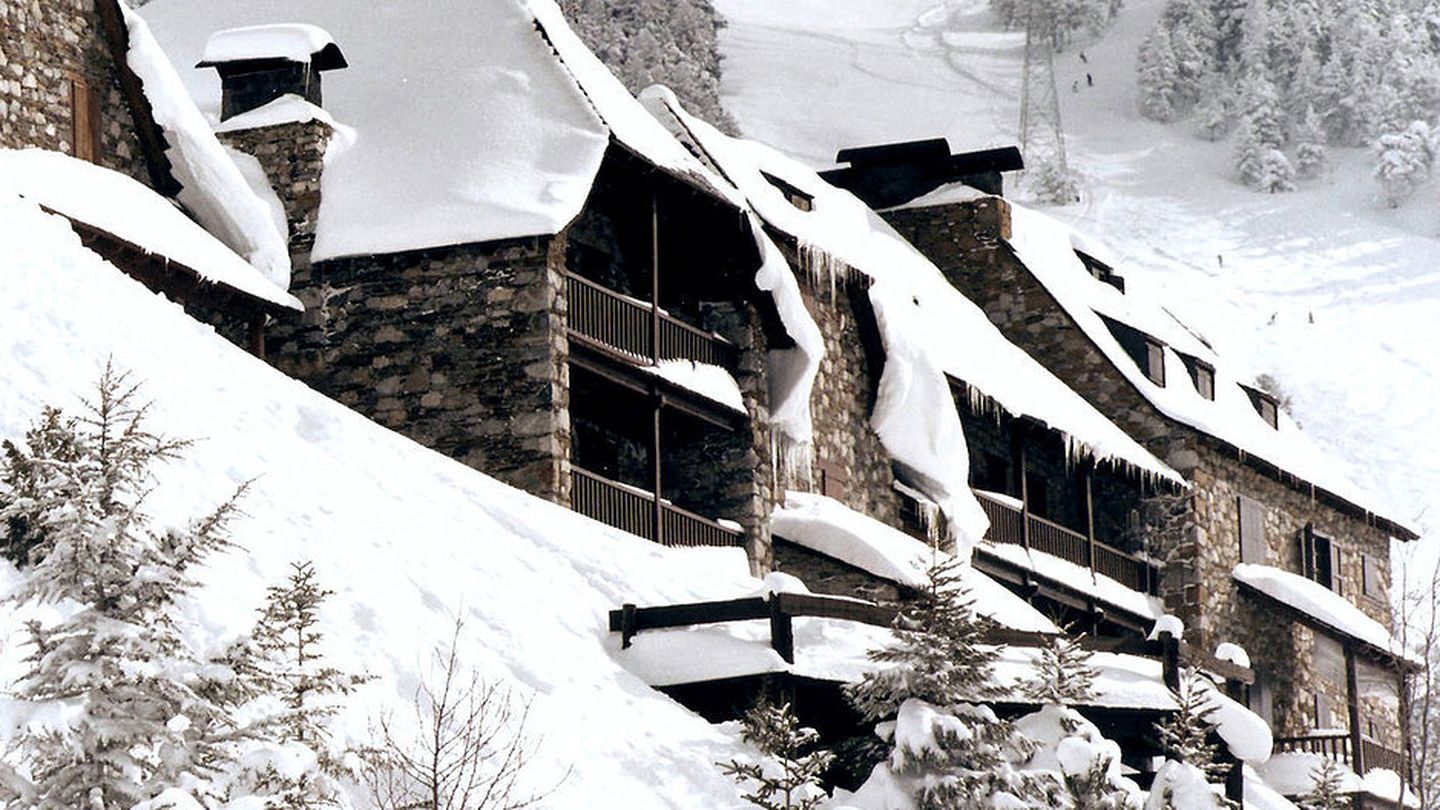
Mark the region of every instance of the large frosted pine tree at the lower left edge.
[[[207, 698], [206, 666], [176, 626], [189, 569], [226, 548], [240, 493], [183, 530], [157, 530], [141, 504], [151, 466], [186, 442], [148, 430], [138, 386], [107, 365], [81, 417], [46, 409], [37, 441], [7, 448], [36, 473], [36, 497], [10, 499], [32, 571], [14, 602], [60, 605], [32, 621], [16, 696], [63, 706], [65, 722], [17, 742], [33, 790], [20, 807], [128, 810], [166, 790], [210, 796], [228, 762], [228, 706]], [[56, 453], [63, 448], [63, 453]], [[242, 487], [243, 491], [243, 487]]]

